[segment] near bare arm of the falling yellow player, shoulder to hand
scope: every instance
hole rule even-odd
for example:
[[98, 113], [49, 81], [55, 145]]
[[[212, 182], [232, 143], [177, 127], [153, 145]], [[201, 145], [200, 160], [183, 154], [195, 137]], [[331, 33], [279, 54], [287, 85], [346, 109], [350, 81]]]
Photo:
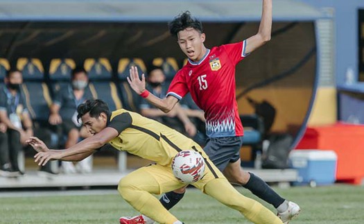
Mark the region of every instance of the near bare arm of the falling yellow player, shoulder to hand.
[[37, 153], [34, 156], [35, 162], [44, 166], [49, 160], [67, 160], [79, 161], [94, 153], [98, 148], [101, 148], [111, 139], [119, 135], [119, 132], [114, 128], [105, 128], [92, 137], [88, 137], [78, 144], [64, 150], [49, 150], [46, 152]]

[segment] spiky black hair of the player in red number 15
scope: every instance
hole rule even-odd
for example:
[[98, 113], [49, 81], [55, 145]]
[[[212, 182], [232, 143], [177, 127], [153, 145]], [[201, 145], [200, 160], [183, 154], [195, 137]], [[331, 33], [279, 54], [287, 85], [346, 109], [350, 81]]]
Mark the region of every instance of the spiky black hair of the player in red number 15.
[[177, 37], [178, 32], [183, 31], [185, 28], [194, 28], [196, 31], [202, 32], [202, 23], [195, 17], [191, 17], [191, 12], [186, 11], [177, 15], [172, 21], [168, 23], [169, 32], [174, 37]]

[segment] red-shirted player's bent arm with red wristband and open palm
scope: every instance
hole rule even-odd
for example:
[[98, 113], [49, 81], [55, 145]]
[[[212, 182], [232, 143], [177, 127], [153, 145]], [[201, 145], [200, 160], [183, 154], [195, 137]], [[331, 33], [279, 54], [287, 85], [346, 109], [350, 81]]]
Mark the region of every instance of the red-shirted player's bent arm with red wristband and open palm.
[[165, 113], [168, 113], [173, 109], [175, 104], [178, 102], [177, 98], [168, 96], [162, 99], [153, 94], [150, 94], [146, 90], [146, 78], [144, 74], [141, 74], [140, 79], [138, 74], [138, 68], [134, 66], [129, 69], [129, 72], [130, 77], [127, 77], [128, 83], [137, 94], [146, 98], [149, 103], [155, 105]]

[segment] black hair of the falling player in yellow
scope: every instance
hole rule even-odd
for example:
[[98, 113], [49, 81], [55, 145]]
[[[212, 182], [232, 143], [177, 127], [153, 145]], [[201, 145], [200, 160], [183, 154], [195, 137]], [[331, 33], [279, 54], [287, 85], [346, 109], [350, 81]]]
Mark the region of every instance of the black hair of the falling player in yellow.
[[85, 103], [81, 103], [77, 107], [77, 119], [83, 117], [83, 115], [89, 112], [89, 117], [99, 117], [102, 112], [106, 115], [110, 113], [109, 107], [107, 103], [101, 101], [99, 99], [96, 100], [87, 100]]

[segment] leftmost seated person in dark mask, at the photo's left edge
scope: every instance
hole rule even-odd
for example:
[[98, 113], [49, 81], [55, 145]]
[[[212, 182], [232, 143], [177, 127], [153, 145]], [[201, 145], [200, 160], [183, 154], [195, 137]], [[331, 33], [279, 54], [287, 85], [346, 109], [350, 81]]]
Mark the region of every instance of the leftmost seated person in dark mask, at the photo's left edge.
[[[26, 101], [21, 94], [20, 87], [23, 83], [23, 76], [19, 70], [10, 70], [4, 79], [6, 86], [0, 90], [0, 121], [6, 126], [3, 138], [8, 141], [1, 146], [1, 164], [8, 171], [15, 171], [24, 174], [19, 170], [18, 154], [26, 146], [26, 139], [35, 135], [44, 138], [46, 144], [51, 142], [51, 130], [46, 128], [33, 128], [31, 115], [26, 108]], [[4, 147], [4, 148], [3, 148]], [[8, 161], [8, 162], [6, 162]], [[51, 173], [50, 164], [44, 166], [40, 171]]]

